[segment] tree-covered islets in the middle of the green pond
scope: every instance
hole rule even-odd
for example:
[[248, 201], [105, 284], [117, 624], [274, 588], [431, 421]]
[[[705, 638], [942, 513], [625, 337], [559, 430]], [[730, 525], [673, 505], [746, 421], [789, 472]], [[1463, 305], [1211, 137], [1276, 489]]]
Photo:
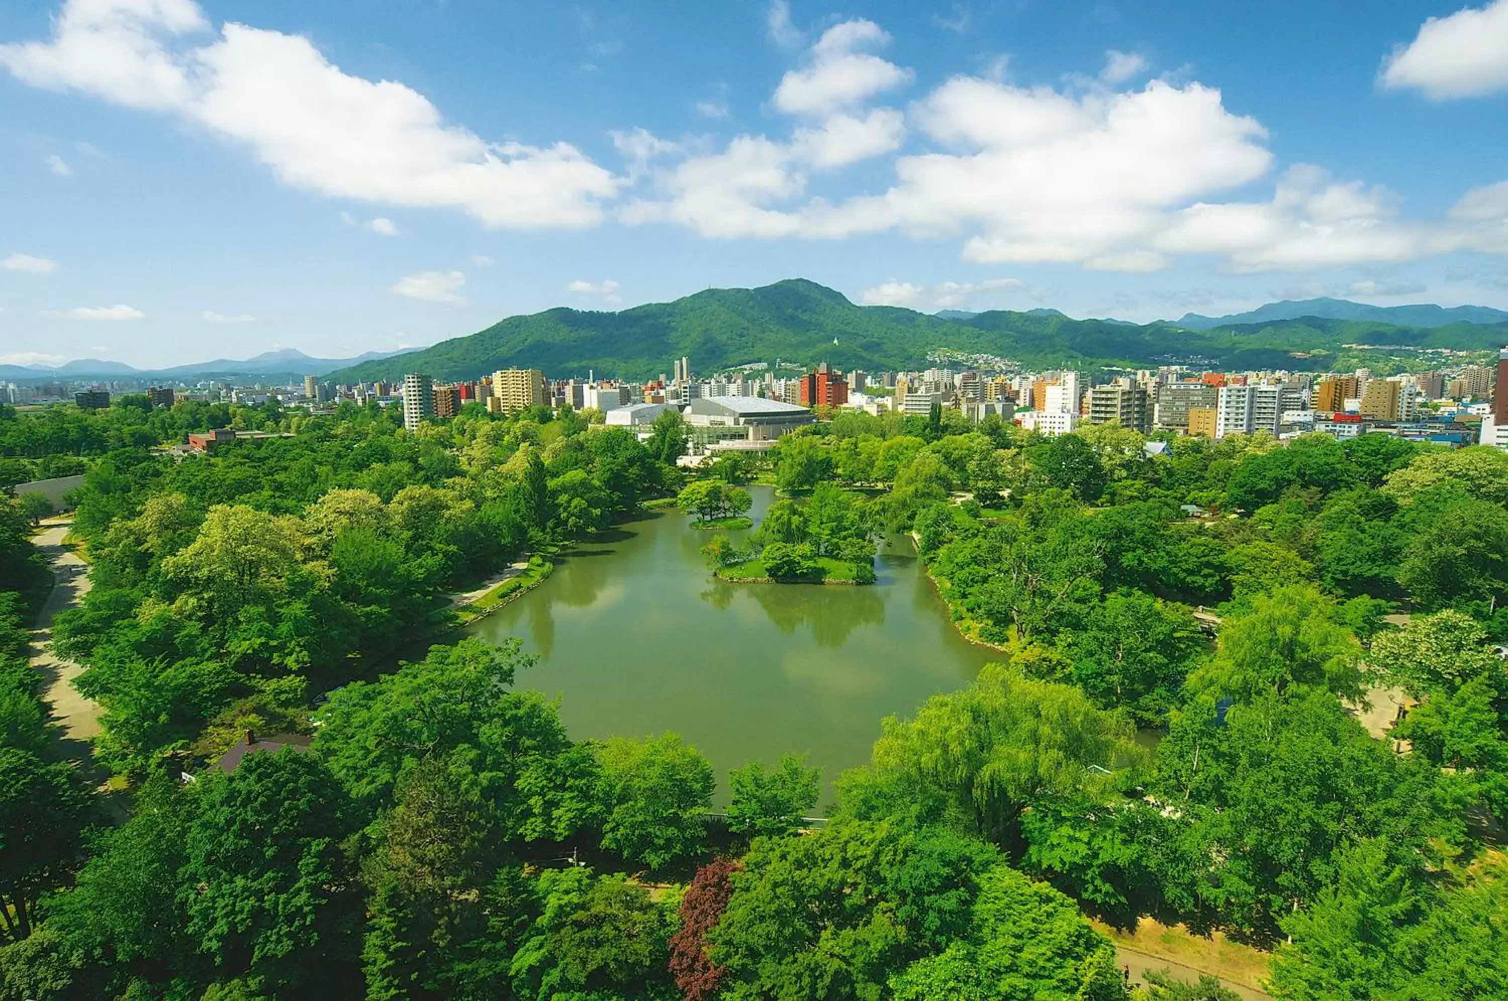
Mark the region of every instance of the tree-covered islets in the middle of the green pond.
[[[679, 505], [694, 528], [749, 528], [746, 490], [716, 479], [686, 487]], [[866, 502], [829, 482], [805, 502], [777, 501], [743, 543], [718, 534], [701, 547], [713, 574], [739, 583], [875, 583], [875, 537]]]

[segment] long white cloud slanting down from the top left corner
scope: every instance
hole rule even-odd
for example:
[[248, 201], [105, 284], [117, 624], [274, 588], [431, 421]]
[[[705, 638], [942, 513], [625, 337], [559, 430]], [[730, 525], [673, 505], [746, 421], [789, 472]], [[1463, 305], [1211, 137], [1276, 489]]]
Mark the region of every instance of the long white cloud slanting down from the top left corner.
[[66, 0], [47, 42], [0, 47], [24, 83], [169, 112], [244, 145], [297, 188], [455, 208], [499, 229], [590, 226], [624, 184], [569, 143], [489, 143], [424, 95], [332, 65], [302, 36], [226, 23], [192, 0]]

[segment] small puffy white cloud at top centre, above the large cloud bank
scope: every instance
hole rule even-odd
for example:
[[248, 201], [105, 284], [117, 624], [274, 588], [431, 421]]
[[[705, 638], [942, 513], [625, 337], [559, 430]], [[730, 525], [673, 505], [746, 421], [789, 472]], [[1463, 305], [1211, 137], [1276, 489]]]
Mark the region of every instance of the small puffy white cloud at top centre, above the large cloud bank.
[[911, 80], [911, 71], [864, 51], [890, 36], [873, 21], [834, 24], [811, 47], [810, 63], [787, 72], [775, 107], [787, 115], [832, 115]]

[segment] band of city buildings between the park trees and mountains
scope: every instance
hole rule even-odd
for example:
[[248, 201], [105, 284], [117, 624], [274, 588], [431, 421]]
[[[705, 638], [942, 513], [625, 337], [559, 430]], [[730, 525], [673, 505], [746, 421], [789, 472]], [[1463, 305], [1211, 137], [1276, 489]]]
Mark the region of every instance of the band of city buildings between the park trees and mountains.
[[[942, 363], [956, 359], [941, 359]], [[995, 359], [1010, 369], [1004, 359]], [[550, 380], [535, 368], [499, 369], [475, 380], [437, 381], [410, 374], [401, 383], [332, 384], [306, 375], [303, 386], [244, 387], [201, 383], [195, 387], [128, 386], [152, 406], [175, 399], [229, 399], [256, 406], [276, 399], [312, 409], [341, 401], [401, 409], [404, 425], [446, 419], [466, 404], [490, 413], [532, 406], [599, 410], [608, 425], [647, 434], [667, 410], [680, 412], [692, 428], [692, 454], [768, 448], [781, 434], [811, 424], [817, 412], [899, 412], [929, 416], [956, 410], [971, 422], [991, 415], [1042, 434], [1063, 434], [1083, 424], [1119, 422], [1143, 434], [1173, 431], [1212, 439], [1265, 431], [1285, 439], [1321, 431], [1339, 439], [1363, 433], [1446, 445], [1494, 445], [1508, 449], [1508, 347], [1496, 365], [1446, 371], [1374, 375], [1353, 372], [1190, 371], [1184, 366], [1143, 369], [1092, 381], [1062, 369], [1042, 372], [927, 368], [915, 372], [840, 372], [822, 363], [799, 374], [784, 363], [743, 365], [709, 377], [692, 374], [691, 359], [673, 359], [671, 371], [647, 381]], [[121, 386], [110, 384], [119, 390]], [[15, 383], [0, 387], [11, 403], [66, 399], [78, 407], [110, 406], [101, 384]], [[302, 392], [299, 392], [302, 389]], [[214, 443], [204, 443], [202, 448]]]

